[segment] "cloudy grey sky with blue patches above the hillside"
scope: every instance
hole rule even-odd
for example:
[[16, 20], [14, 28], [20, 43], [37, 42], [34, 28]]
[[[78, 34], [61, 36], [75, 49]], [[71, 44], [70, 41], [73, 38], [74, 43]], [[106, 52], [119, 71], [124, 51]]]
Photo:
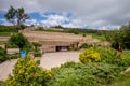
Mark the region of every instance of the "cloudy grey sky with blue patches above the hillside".
[[0, 25], [10, 8], [24, 8], [26, 25], [115, 29], [130, 22], [130, 0], [0, 0]]

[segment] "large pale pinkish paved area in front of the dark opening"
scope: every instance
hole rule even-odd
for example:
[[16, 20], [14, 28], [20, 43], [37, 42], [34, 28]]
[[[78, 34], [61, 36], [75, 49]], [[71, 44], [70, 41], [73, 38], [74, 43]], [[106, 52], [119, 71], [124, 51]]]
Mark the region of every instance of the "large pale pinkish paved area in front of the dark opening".
[[46, 53], [41, 58], [40, 67], [51, 69], [53, 67], [60, 67], [67, 61], [78, 62], [79, 54], [78, 52]]

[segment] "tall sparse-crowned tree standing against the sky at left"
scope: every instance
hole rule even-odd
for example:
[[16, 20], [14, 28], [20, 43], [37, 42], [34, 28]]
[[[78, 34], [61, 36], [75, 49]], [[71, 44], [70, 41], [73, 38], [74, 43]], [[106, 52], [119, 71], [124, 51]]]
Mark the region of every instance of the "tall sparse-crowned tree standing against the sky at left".
[[13, 24], [17, 31], [22, 29], [25, 20], [29, 18], [28, 14], [25, 13], [24, 8], [14, 9], [13, 6], [10, 6], [4, 17], [8, 22]]

